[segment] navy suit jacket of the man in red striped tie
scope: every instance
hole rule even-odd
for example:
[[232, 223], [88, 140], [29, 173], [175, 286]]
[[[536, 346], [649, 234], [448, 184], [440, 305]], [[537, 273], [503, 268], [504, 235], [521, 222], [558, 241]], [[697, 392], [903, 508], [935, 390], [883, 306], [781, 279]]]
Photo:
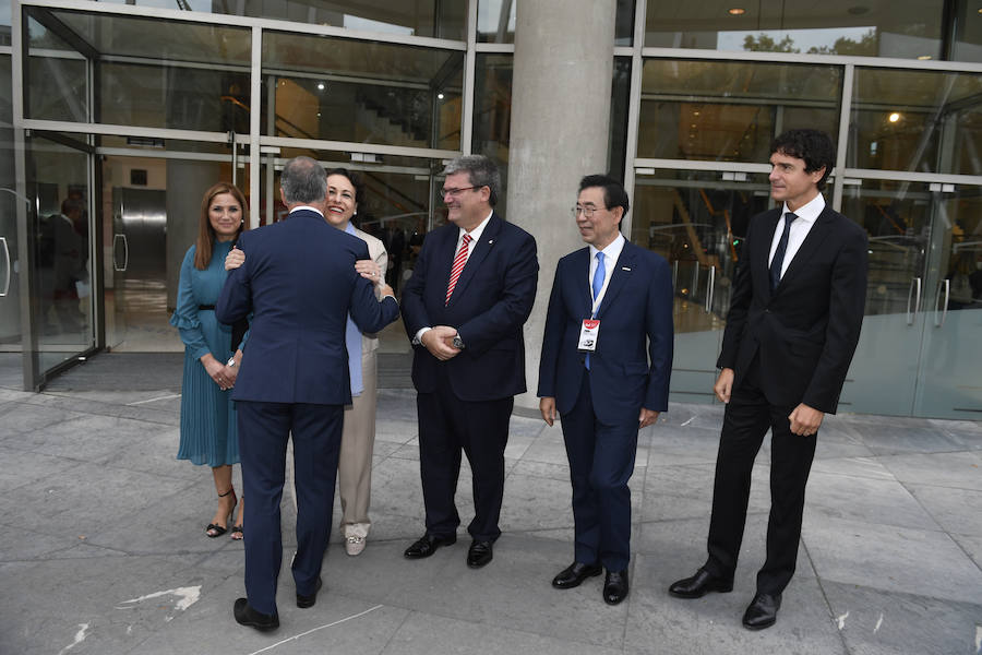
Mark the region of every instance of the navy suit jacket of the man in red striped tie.
[[456, 327], [465, 347], [441, 362], [417, 345], [412, 383], [420, 393], [432, 393], [438, 367], [443, 366], [462, 401], [493, 401], [523, 393], [522, 326], [536, 299], [536, 240], [492, 214], [480, 241], [472, 246], [450, 305], [444, 306], [459, 234], [456, 225], [447, 224], [427, 235], [412, 277], [403, 289], [403, 322], [410, 340], [421, 327]]

